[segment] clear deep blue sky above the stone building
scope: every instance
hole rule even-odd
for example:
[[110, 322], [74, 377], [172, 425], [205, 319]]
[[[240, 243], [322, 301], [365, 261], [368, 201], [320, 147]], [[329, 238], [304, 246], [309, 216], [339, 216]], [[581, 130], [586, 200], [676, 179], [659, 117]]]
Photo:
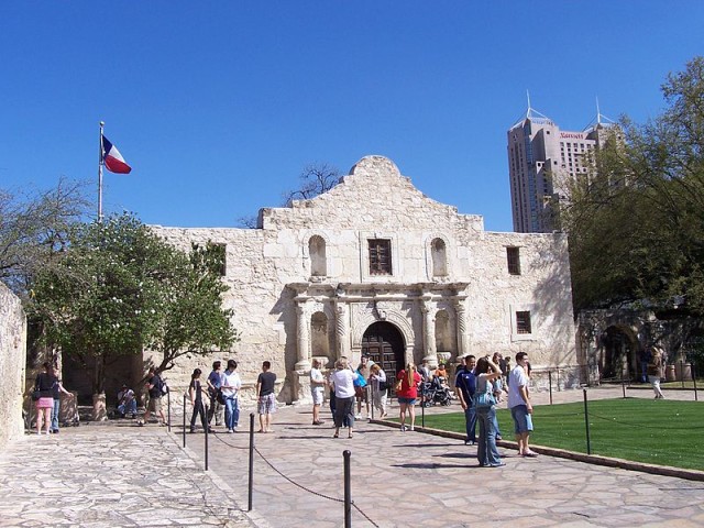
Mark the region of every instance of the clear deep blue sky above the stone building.
[[[232, 227], [381, 154], [430, 198], [513, 230], [506, 131], [657, 116], [668, 73], [704, 54], [704, 2], [7, 1], [0, 188], [61, 176], [97, 196], [99, 121], [130, 175], [103, 208]], [[97, 200], [97, 198], [96, 198]]]

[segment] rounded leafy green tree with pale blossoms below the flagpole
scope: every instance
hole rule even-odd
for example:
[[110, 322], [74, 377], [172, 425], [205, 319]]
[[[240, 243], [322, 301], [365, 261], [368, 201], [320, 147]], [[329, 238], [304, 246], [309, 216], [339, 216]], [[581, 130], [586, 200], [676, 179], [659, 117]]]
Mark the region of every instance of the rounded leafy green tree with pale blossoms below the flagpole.
[[106, 366], [121, 355], [152, 348], [164, 370], [182, 353], [232, 343], [222, 292], [210, 270], [125, 213], [72, 230], [55, 265], [36, 277], [32, 308], [50, 345], [92, 366], [100, 394]]

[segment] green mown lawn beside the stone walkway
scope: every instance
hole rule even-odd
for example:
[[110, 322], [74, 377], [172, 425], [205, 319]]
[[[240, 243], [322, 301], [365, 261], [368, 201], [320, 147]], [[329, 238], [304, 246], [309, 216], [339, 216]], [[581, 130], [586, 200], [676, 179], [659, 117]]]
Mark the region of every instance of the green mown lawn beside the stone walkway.
[[[704, 403], [602, 399], [588, 403], [588, 416], [592, 454], [704, 470]], [[498, 422], [513, 440], [510, 413], [499, 410]], [[426, 414], [426, 426], [464, 432], [464, 414]], [[586, 453], [584, 403], [536, 407], [534, 427], [531, 443]]]

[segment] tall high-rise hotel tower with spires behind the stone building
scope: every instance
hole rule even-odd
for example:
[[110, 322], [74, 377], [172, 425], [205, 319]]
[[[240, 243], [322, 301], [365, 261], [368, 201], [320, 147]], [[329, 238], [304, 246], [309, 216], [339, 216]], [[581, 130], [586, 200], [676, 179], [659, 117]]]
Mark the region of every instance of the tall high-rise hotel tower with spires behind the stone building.
[[508, 130], [508, 174], [514, 231], [546, 233], [560, 229], [560, 205], [568, 200], [568, 183], [587, 177], [586, 154], [605, 141], [597, 112], [594, 127], [582, 132], [560, 130], [550, 118], [532, 110]]

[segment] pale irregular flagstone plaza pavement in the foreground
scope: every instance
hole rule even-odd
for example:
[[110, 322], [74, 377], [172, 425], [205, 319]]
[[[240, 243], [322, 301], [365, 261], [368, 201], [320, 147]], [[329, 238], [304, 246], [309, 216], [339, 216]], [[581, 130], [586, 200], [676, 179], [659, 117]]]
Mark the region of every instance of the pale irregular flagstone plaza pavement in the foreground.
[[[647, 391], [629, 396], [651, 397]], [[691, 393], [672, 398], [693, 399]], [[556, 403], [581, 399], [582, 391], [553, 394]], [[210, 435], [206, 472], [205, 435], [186, 435], [183, 449], [180, 416], [175, 409], [170, 433], [125, 420], [10, 444], [0, 453], [0, 527], [339, 527], [344, 450], [352, 453], [352, 526], [704, 526], [704, 482], [544, 454], [524, 459], [508, 448], [501, 449], [506, 466], [480, 469], [476, 448], [457, 438], [364, 420], [354, 438], [333, 439], [329, 414], [326, 425], [312, 426], [308, 406], [280, 408], [274, 432], [254, 435], [246, 513], [249, 433]], [[240, 429], [249, 429], [248, 409]]]

